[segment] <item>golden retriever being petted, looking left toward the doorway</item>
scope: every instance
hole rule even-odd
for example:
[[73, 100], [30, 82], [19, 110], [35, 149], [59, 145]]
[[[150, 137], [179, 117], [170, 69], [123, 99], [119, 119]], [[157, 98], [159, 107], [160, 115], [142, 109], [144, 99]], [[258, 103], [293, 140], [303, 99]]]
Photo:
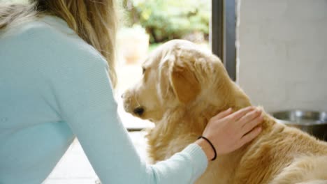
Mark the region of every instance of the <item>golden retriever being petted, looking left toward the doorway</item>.
[[[122, 98], [126, 112], [155, 125], [147, 135], [153, 162], [196, 141], [212, 116], [251, 105], [219, 58], [186, 40], [152, 52], [143, 63], [143, 79]], [[196, 183], [327, 183], [327, 143], [263, 113], [261, 134], [209, 162]]]

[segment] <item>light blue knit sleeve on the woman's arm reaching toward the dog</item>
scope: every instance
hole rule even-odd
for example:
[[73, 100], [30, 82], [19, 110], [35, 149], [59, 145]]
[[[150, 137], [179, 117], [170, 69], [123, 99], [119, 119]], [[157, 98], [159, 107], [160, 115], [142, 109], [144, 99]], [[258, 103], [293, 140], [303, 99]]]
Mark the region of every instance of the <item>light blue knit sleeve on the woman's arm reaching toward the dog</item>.
[[102, 183], [194, 183], [203, 174], [208, 161], [197, 144], [157, 164], [142, 160], [119, 122], [105, 59], [76, 38], [52, 36], [42, 49], [52, 60], [45, 75], [57, 111]]

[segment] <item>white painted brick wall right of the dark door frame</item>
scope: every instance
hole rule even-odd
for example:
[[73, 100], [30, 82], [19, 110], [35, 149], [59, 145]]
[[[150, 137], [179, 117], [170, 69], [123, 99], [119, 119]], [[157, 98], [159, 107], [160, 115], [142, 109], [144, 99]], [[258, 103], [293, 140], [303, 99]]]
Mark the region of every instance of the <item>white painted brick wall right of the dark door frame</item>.
[[238, 84], [254, 105], [327, 111], [327, 0], [243, 0]]

